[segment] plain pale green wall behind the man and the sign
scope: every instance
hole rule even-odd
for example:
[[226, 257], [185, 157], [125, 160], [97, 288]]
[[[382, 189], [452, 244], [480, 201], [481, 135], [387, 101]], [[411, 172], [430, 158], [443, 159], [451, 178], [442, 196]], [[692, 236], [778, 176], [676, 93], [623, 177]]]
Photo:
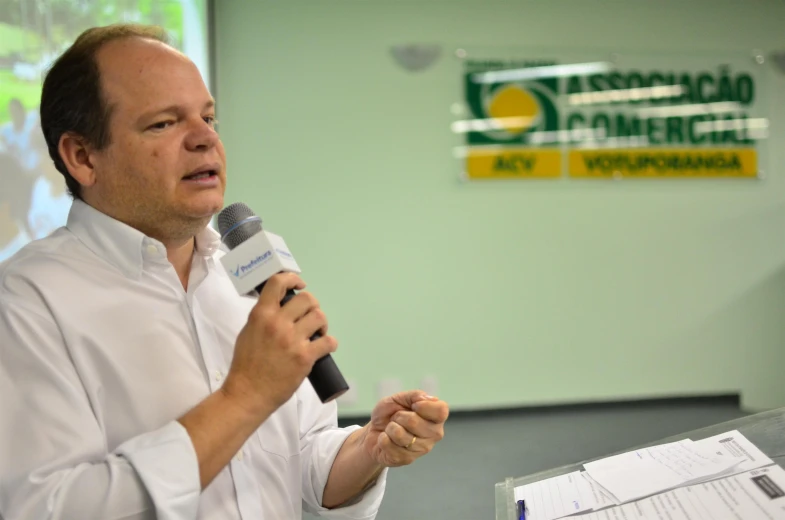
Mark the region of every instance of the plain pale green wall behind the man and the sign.
[[[785, 405], [785, 75], [760, 181], [466, 183], [459, 47], [785, 49], [775, 0], [216, 0], [227, 203], [285, 237], [367, 413], [740, 392]], [[407, 73], [391, 45], [436, 43]]]

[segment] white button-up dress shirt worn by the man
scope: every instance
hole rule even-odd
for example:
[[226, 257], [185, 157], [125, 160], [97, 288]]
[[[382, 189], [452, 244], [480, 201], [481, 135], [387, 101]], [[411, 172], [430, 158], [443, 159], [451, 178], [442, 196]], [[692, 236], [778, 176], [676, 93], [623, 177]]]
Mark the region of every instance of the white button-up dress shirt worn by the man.
[[223, 383], [255, 300], [196, 237], [188, 289], [160, 242], [76, 201], [68, 224], [0, 264], [0, 517], [375, 518], [387, 470], [321, 507], [342, 443], [306, 379], [200, 492], [176, 419]]

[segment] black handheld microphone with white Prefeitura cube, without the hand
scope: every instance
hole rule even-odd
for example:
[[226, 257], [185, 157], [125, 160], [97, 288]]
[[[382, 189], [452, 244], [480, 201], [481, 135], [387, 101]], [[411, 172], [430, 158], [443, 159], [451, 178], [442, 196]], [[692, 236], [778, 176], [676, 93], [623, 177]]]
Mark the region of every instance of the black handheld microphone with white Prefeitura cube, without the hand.
[[[221, 264], [240, 294], [258, 296], [273, 275], [284, 271], [301, 272], [283, 238], [263, 230], [262, 219], [242, 202], [230, 204], [221, 210], [218, 214], [218, 230], [221, 241], [229, 248], [229, 252], [221, 258]], [[289, 289], [281, 305], [285, 305], [296, 294], [294, 289]], [[320, 337], [322, 333], [316, 331], [311, 341]], [[349, 390], [349, 385], [330, 354], [314, 363], [308, 380], [323, 403]]]

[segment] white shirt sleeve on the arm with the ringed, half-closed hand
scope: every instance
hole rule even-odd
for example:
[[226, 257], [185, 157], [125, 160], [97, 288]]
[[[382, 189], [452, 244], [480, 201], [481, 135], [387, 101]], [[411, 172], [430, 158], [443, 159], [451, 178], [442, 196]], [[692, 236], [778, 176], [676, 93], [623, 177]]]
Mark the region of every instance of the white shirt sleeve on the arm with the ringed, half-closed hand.
[[333, 461], [344, 441], [360, 426], [338, 428], [335, 401], [323, 404], [306, 381], [297, 391], [300, 416], [300, 461], [302, 464], [303, 509], [323, 518], [373, 520], [379, 512], [388, 468], [376, 482], [349, 504], [335, 509], [322, 507], [322, 496]]

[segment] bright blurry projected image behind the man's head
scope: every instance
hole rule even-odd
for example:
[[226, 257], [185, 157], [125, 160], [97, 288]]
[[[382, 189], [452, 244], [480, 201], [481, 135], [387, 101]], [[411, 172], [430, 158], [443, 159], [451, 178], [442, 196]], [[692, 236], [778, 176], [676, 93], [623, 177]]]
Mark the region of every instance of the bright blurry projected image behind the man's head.
[[207, 0], [0, 0], [0, 262], [63, 226], [71, 207], [47, 153], [43, 75], [83, 30], [160, 25], [209, 85]]

